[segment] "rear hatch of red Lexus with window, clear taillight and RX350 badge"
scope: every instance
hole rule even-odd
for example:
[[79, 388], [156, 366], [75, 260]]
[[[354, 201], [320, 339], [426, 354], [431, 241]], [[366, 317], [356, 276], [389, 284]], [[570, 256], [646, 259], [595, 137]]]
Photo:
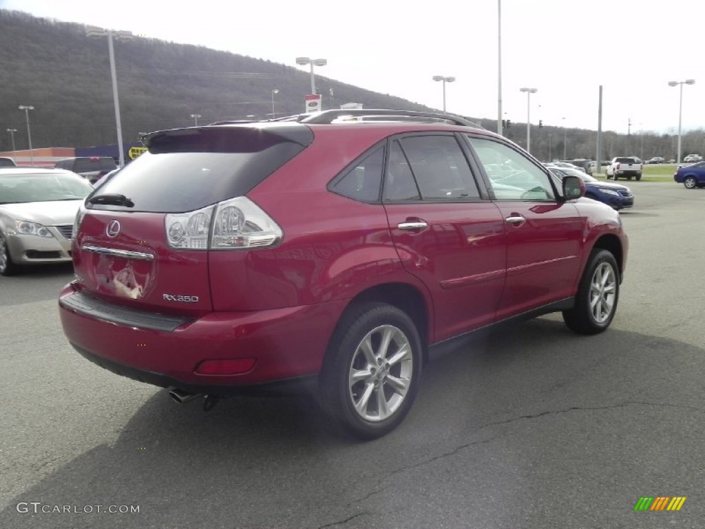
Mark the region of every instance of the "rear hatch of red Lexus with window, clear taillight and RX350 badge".
[[[149, 152], [95, 190], [79, 212], [73, 242], [79, 288], [130, 308], [211, 311], [209, 250], [281, 238], [244, 195], [312, 138], [298, 123], [154, 133]], [[257, 233], [247, 224], [253, 215]]]

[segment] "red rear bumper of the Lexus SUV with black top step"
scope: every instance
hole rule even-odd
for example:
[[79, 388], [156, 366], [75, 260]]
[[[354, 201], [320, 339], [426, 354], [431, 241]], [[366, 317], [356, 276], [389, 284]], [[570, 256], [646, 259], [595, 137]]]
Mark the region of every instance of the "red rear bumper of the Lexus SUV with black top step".
[[[82, 305], [76, 303], [77, 296], [82, 296]], [[215, 395], [317, 375], [345, 308], [345, 302], [339, 301], [257, 312], [211, 312], [185, 319], [118, 305], [111, 315], [105, 305], [109, 304], [85, 296], [72, 285], [61, 292], [63, 331], [79, 353], [118, 375]], [[254, 359], [255, 365], [242, 374], [196, 372], [203, 360], [243, 358]]]

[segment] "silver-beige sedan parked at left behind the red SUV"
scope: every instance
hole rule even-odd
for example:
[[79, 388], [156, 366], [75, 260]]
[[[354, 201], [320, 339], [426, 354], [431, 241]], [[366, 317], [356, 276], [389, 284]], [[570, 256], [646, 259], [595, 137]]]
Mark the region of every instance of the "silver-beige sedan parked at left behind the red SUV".
[[0, 169], [0, 275], [71, 261], [73, 221], [93, 187], [61, 169]]

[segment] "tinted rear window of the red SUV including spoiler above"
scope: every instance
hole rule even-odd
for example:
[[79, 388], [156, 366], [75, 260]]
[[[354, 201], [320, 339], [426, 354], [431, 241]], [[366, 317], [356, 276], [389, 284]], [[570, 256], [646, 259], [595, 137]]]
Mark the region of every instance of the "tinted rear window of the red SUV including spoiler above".
[[[310, 141], [308, 128], [298, 127]], [[134, 206], [88, 207], [176, 213], [245, 195], [305, 149], [307, 143], [293, 136], [246, 127], [160, 133], [150, 138], [149, 152], [94, 193], [124, 195]]]

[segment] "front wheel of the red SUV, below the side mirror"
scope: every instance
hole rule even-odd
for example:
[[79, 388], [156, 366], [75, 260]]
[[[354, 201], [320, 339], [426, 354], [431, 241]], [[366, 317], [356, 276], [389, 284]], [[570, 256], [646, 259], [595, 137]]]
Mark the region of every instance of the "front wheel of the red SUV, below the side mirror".
[[619, 268], [614, 256], [607, 250], [593, 250], [580, 279], [575, 306], [563, 311], [563, 321], [580, 334], [605, 331], [617, 312], [619, 287]]

